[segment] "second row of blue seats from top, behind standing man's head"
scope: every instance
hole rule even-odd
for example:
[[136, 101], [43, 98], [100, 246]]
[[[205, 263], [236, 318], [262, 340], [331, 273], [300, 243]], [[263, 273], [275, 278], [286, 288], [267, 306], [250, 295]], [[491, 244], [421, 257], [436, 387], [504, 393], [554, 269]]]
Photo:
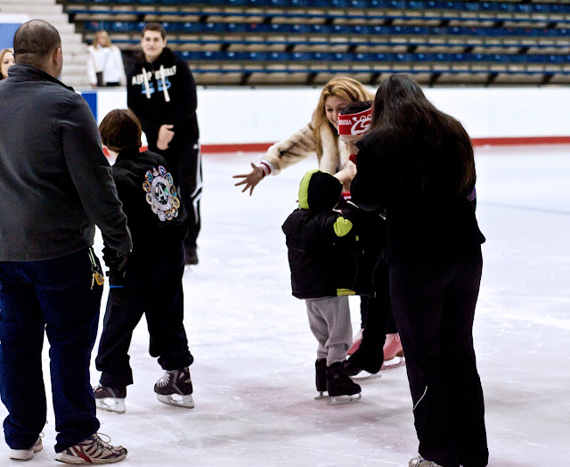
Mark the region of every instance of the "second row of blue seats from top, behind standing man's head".
[[[85, 30], [106, 29], [110, 32], [140, 32], [145, 21], [85, 21]], [[554, 28], [475, 28], [439, 26], [367, 26], [351, 24], [251, 24], [224, 22], [163, 21], [169, 33], [252, 33], [305, 34], [338, 36], [476, 36], [476, 37], [570, 37], [570, 29]]]

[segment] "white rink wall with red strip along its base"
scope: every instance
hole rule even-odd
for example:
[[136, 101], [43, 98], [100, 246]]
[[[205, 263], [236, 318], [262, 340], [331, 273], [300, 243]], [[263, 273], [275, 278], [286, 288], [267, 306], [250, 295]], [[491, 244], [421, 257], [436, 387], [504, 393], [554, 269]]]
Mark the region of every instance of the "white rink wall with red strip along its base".
[[[570, 143], [566, 87], [427, 88], [438, 108], [459, 119], [475, 144]], [[320, 88], [199, 88], [204, 152], [260, 152], [311, 118]], [[126, 107], [124, 89], [85, 91], [96, 119]]]

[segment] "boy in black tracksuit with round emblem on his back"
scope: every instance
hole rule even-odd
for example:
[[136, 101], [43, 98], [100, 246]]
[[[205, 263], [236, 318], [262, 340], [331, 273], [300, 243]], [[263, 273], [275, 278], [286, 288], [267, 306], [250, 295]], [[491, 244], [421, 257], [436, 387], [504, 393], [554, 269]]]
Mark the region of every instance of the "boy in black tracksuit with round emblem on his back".
[[112, 175], [133, 236], [133, 250], [126, 266], [113, 261], [109, 247], [103, 250], [111, 265], [110, 295], [95, 359], [102, 372], [95, 389], [97, 406], [125, 411], [126, 386], [133, 384], [127, 352], [134, 328], [146, 315], [151, 356], [159, 357], [166, 372], [154, 390], [161, 402], [191, 408], [188, 367], [194, 358], [183, 326], [186, 211], [167, 161], [154, 152], [139, 152], [141, 126], [132, 111], [110, 111], [100, 130], [110, 152], [118, 152]]

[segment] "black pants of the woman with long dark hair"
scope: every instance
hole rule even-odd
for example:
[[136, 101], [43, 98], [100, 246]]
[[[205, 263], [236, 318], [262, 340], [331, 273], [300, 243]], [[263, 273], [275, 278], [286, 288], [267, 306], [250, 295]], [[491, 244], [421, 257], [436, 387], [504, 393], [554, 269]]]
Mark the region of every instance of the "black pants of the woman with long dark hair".
[[389, 268], [419, 454], [444, 467], [483, 467], [489, 458], [472, 333], [482, 266], [476, 247]]

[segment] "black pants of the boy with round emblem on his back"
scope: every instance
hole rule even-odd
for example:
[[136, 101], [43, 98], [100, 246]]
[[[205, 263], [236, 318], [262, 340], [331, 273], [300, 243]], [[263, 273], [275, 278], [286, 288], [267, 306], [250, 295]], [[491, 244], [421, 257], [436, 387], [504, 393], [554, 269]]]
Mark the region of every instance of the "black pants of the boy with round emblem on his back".
[[136, 245], [126, 264], [124, 288], [111, 288], [95, 359], [101, 384], [112, 388], [133, 384], [128, 348], [133, 331], [146, 315], [149, 352], [164, 370], [191, 365], [183, 325], [184, 250], [182, 242], [153, 248]]

